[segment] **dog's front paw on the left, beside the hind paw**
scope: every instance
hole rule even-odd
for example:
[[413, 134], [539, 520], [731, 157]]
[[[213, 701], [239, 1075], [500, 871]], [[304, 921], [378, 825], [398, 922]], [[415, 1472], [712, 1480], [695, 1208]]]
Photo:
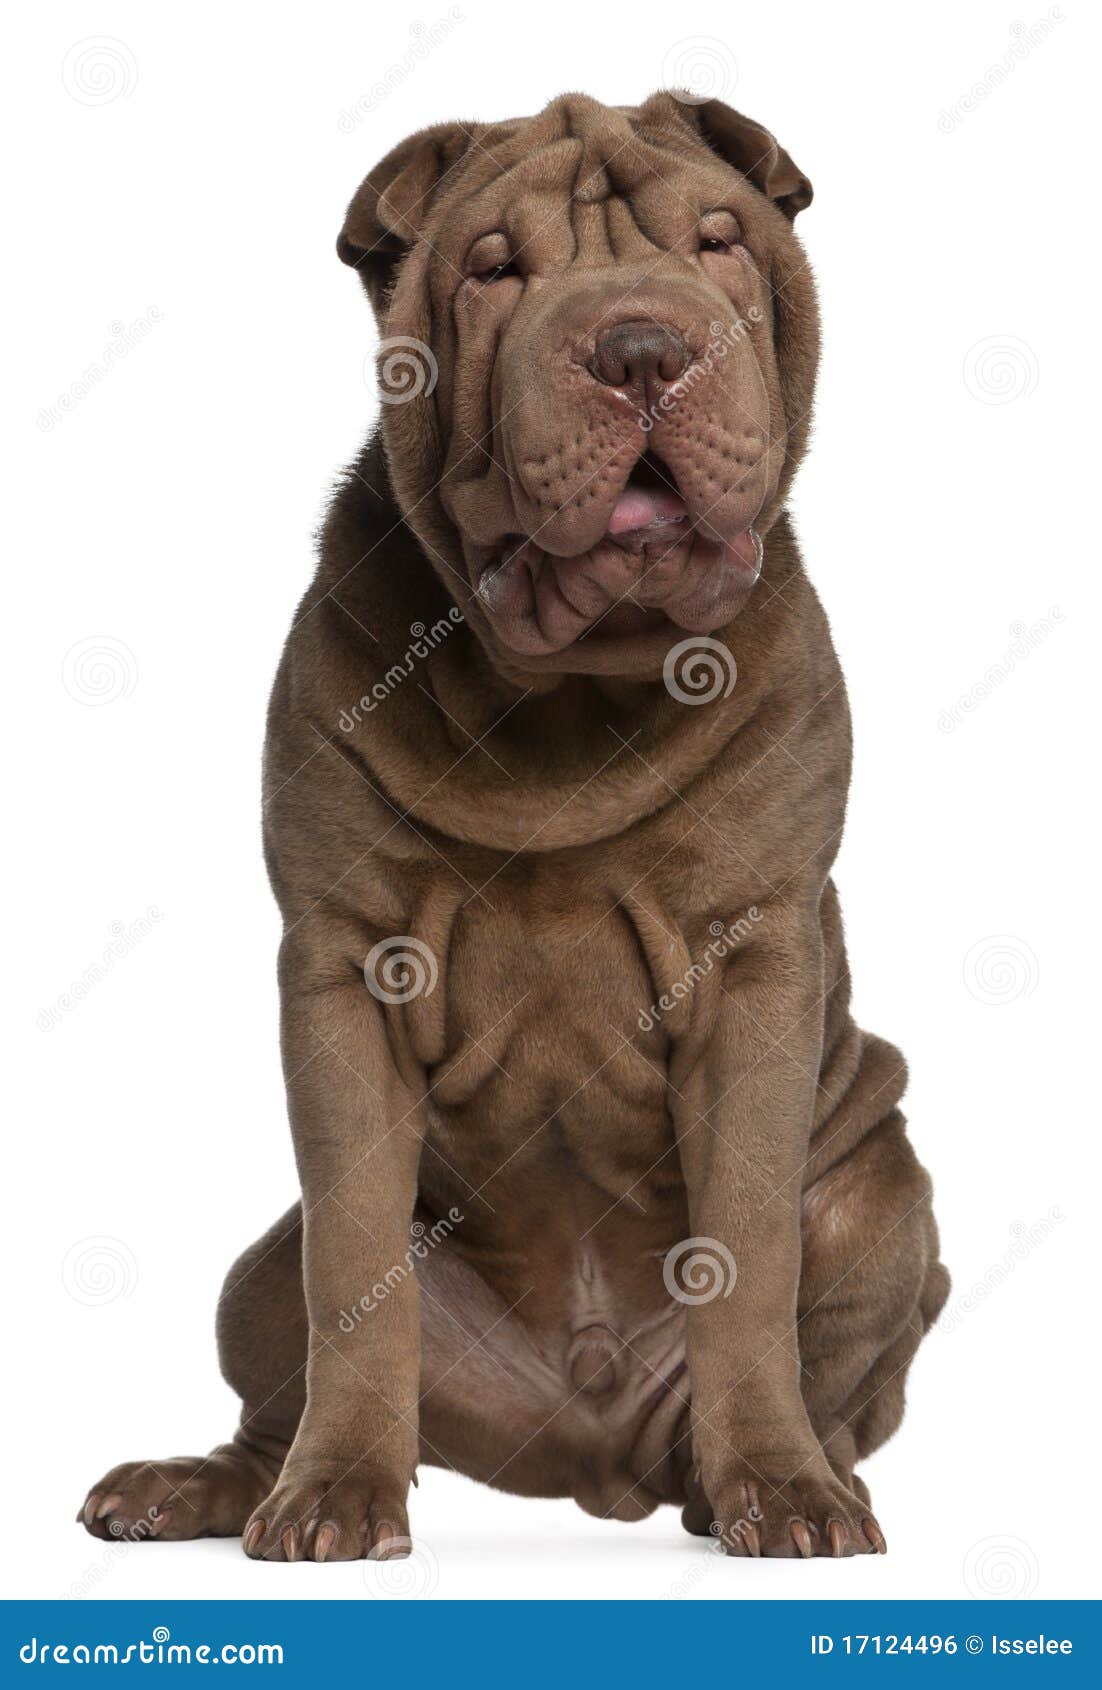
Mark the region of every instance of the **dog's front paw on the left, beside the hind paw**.
[[409, 1555], [406, 1501], [394, 1480], [350, 1474], [289, 1474], [260, 1502], [243, 1535], [264, 1562], [397, 1560]]

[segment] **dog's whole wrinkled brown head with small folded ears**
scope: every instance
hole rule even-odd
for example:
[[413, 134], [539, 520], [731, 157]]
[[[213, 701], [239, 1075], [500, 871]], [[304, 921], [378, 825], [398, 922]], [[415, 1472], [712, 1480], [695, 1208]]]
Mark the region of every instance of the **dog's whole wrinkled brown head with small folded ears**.
[[810, 199], [669, 93], [439, 125], [360, 186], [396, 495], [499, 666], [651, 674], [742, 608], [808, 429]]

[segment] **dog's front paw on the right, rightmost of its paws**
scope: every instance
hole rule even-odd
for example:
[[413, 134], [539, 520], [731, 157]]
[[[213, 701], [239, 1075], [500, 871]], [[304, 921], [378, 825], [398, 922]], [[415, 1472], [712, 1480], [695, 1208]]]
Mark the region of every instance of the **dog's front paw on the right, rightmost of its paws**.
[[728, 1475], [717, 1486], [712, 1535], [727, 1555], [811, 1560], [816, 1555], [884, 1555], [872, 1509], [840, 1479]]

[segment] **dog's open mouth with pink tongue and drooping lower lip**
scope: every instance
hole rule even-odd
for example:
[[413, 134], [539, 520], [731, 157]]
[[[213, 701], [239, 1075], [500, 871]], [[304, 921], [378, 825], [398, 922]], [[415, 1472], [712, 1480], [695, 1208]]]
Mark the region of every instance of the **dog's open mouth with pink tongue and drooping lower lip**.
[[646, 451], [595, 546], [563, 558], [539, 534], [510, 534], [482, 561], [477, 592], [507, 646], [551, 656], [576, 641], [663, 629], [712, 634], [742, 608], [761, 564], [752, 526], [720, 537], [706, 512], [693, 515], [666, 463]]

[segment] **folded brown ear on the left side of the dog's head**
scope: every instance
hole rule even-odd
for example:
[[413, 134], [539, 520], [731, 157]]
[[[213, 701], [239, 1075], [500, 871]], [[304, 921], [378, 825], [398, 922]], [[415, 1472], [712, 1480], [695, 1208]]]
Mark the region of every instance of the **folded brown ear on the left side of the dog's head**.
[[358, 270], [379, 318], [399, 259], [417, 238], [433, 196], [475, 140], [473, 123], [434, 123], [402, 140], [357, 188], [336, 255]]

